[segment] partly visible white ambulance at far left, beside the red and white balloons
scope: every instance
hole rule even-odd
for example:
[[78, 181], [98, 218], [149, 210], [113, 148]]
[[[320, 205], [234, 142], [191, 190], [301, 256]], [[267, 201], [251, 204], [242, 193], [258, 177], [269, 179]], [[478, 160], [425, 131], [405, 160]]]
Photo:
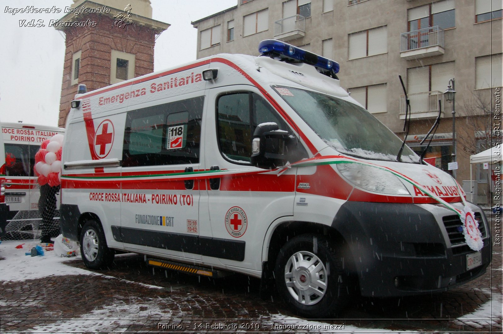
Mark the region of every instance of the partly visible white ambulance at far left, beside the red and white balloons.
[[[38, 210], [40, 191], [37, 176], [34, 174], [35, 154], [45, 140], [56, 134], [64, 133], [65, 129], [27, 123], [1, 123], [2, 137], [0, 146], [0, 186], [2, 195], [0, 202], [4, 203], [2, 221], [12, 232], [31, 231], [38, 227], [36, 215], [26, 214], [14, 222], [11, 220], [19, 211]], [[35, 226], [34, 226], [35, 225]], [[14, 229], [14, 230], [13, 230]]]

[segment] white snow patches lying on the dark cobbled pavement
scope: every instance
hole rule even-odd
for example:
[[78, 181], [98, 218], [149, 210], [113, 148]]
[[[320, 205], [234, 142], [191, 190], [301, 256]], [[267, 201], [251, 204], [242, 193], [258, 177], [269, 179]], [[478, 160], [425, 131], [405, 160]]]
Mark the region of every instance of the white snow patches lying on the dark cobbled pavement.
[[[23, 245], [22, 249], [16, 249], [17, 245]], [[29, 252], [35, 244], [33, 241], [4, 241], [0, 244], [0, 285], [12, 281], [24, 281], [31, 279], [41, 279], [51, 275], [102, 275], [91, 272], [85, 269], [75, 268], [66, 265], [67, 261], [74, 260], [72, 258], [61, 258], [54, 255], [54, 251], [46, 251], [44, 256], [26, 256], [25, 252]], [[143, 283], [129, 282], [128, 284], [142, 284], [152, 289], [160, 287], [154, 285], [145, 285]], [[7, 306], [0, 302], [0, 307]], [[94, 331], [109, 331], [121, 332], [127, 330], [132, 319], [164, 318], [166, 310], [159, 309], [159, 305], [155, 301], [145, 303], [140, 301], [134, 305], [126, 305], [118, 301], [113, 306], [100, 307], [88, 314], [85, 314], [75, 319], [61, 319], [55, 323], [38, 325], [33, 328], [38, 332], [65, 332], [71, 328], [71, 332], [94, 332]], [[173, 317], [183, 319], [184, 314], [171, 313]], [[9, 318], [9, 314], [3, 314], [4, 318]], [[475, 312], [465, 314], [458, 320], [460, 323], [466, 323], [469, 319], [489, 319], [501, 318], [501, 297], [493, 294], [493, 299], [480, 306]], [[269, 330], [273, 329], [276, 332], [294, 332], [294, 331], [311, 331], [311, 332], [410, 332], [404, 330], [385, 330], [379, 328], [359, 328], [355, 326], [345, 325], [344, 330], [334, 328], [326, 328], [327, 323], [304, 320], [295, 317], [289, 317], [282, 314], [271, 314], [271, 324]], [[100, 321], [97, 321], [100, 320]], [[274, 326], [274, 327], [273, 327]], [[123, 328], [122, 328], [123, 327]], [[122, 328], [122, 330], [121, 330]], [[237, 329], [239, 331], [239, 329]], [[243, 330], [244, 331], [244, 330]]]

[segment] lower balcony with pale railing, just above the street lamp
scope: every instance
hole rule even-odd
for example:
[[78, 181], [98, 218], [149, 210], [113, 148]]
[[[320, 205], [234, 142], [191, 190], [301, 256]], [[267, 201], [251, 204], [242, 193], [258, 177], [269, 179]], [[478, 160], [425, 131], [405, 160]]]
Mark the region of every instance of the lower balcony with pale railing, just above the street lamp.
[[[439, 114], [439, 98], [442, 99], [442, 113], [444, 117], [444, 94], [438, 90], [424, 93], [407, 94], [410, 101], [410, 119], [422, 120], [436, 118]], [[405, 95], [400, 96], [400, 120], [405, 119]]]

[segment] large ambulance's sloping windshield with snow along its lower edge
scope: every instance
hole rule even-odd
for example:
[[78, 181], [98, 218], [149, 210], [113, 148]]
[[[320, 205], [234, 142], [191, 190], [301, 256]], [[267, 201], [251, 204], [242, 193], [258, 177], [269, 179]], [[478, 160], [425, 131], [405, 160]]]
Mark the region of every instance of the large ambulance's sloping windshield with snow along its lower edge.
[[[292, 87], [275, 89], [333, 149], [365, 159], [397, 161], [402, 141], [364, 108], [313, 91]], [[418, 163], [419, 160], [409, 147], [404, 147], [402, 162]]]

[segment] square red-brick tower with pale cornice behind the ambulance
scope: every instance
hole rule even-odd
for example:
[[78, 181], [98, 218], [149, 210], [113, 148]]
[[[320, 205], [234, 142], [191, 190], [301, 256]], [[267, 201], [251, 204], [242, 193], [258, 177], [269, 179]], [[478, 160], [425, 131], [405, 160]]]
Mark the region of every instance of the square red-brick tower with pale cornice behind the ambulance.
[[170, 26], [152, 20], [149, 0], [73, 0], [65, 13], [55, 25], [66, 34], [60, 127], [78, 84], [90, 91], [153, 72], [155, 35]]

